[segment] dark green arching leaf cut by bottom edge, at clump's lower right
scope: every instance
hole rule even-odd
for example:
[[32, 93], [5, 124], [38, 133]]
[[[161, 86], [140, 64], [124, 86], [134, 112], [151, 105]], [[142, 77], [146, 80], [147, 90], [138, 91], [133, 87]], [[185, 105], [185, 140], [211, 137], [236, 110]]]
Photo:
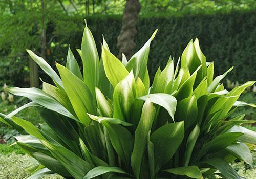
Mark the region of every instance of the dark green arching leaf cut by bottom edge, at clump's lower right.
[[209, 159], [202, 163], [207, 163], [217, 168], [225, 178], [240, 179], [236, 170], [234, 170], [226, 161], [220, 158]]

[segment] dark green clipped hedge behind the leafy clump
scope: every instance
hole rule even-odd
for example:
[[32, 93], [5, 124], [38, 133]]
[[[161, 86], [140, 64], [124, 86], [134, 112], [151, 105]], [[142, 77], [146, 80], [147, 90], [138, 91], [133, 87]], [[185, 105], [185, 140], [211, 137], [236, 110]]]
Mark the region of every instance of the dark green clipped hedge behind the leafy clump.
[[[67, 55], [67, 43], [71, 45], [73, 51], [75, 48], [80, 48], [83, 18], [66, 17], [61, 23], [66, 23], [68, 26], [69, 22], [74, 26], [73, 32], [58, 35], [53, 41], [56, 46], [50, 48], [51, 54], [47, 60], [53, 66], [54, 61], [66, 63], [63, 57]], [[87, 18], [87, 24], [99, 51], [103, 34], [111, 51], [114, 54], [118, 53], [116, 43], [122, 24], [121, 16], [93, 16]], [[165, 65], [169, 55], [177, 60], [189, 40], [198, 37], [206, 60], [215, 62], [216, 74], [222, 74], [230, 66], [235, 66], [228, 78], [244, 82], [253, 80], [256, 76], [255, 25], [255, 11], [182, 17], [140, 17], [135, 40], [136, 50], [143, 46], [155, 29], [159, 29], [152, 42], [148, 60], [150, 74], [154, 75], [159, 65], [161, 67]], [[48, 35], [54, 30], [57, 29], [52, 24], [48, 27]], [[15, 76], [10, 76], [10, 79], [15, 81]], [[18, 81], [15, 83], [19, 85]]]

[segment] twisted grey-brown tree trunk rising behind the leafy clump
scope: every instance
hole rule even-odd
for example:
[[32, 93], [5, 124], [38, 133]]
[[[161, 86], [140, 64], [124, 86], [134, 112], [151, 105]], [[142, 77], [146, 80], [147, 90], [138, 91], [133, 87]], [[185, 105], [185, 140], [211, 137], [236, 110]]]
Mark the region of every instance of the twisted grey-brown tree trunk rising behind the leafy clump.
[[123, 23], [121, 32], [117, 38], [118, 58], [122, 58], [122, 53], [130, 59], [134, 52], [134, 38], [137, 34], [136, 22], [139, 16], [141, 5], [138, 0], [126, 0], [123, 12]]

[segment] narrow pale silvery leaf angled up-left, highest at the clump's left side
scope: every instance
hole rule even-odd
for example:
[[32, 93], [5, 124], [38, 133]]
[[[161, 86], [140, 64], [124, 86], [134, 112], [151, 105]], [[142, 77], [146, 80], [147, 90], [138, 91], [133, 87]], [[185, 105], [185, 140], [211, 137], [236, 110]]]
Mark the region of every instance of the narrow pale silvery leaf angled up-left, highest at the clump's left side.
[[31, 56], [31, 58], [40, 66], [40, 68], [48, 75], [50, 76], [55, 83], [63, 87], [62, 81], [57, 75], [57, 73], [51, 68], [51, 66], [41, 57], [37, 56], [32, 52], [31, 50], [27, 49], [27, 52]]

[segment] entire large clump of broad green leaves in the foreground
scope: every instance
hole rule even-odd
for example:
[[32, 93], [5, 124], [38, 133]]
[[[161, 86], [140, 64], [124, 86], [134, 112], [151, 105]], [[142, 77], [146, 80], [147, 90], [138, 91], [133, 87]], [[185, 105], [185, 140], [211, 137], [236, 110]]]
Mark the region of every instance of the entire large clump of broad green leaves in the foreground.
[[[232, 68], [214, 78], [214, 63], [206, 62], [196, 39], [180, 65], [170, 57], [158, 69], [150, 87], [147, 59], [156, 32], [121, 62], [104, 39], [99, 58], [86, 26], [77, 49], [83, 73], [69, 49], [66, 66], [56, 64], [60, 77], [27, 50], [55, 85], [9, 88], [32, 102], [0, 119], [23, 134], [15, 137], [17, 145], [38, 161], [30, 178], [202, 178], [217, 170], [240, 178], [229, 163], [238, 158], [252, 165], [256, 133], [240, 125], [255, 121], [228, 117], [247, 105], [237, 99], [254, 81], [228, 92], [220, 81]], [[38, 128], [14, 116], [29, 106], [38, 106], [45, 121]]]

